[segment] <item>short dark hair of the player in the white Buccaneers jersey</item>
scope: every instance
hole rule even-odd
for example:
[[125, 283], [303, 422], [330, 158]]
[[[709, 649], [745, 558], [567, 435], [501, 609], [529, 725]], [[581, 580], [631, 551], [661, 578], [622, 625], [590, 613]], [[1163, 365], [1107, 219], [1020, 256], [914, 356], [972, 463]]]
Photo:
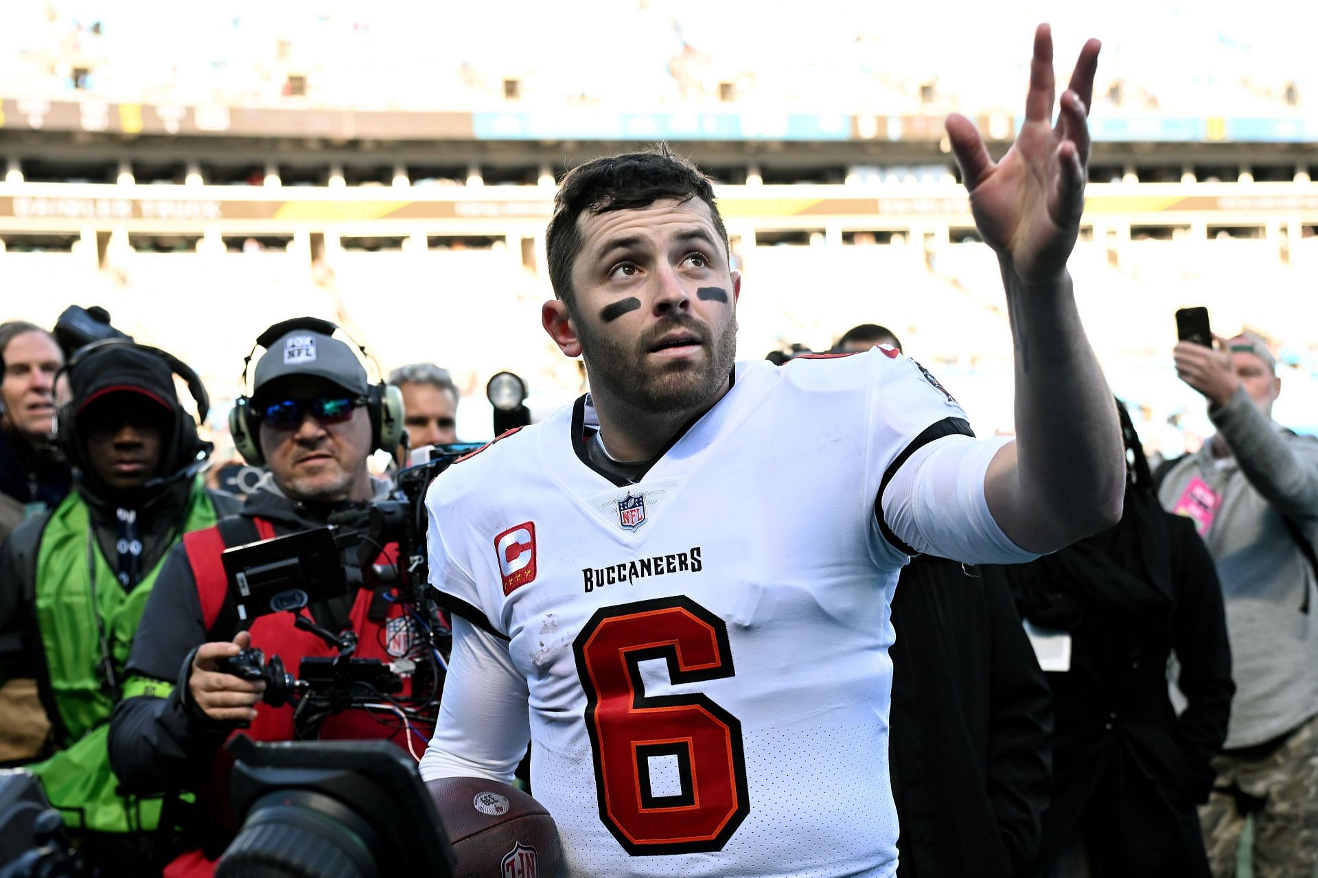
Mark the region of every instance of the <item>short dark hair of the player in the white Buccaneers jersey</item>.
[[667, 144], [660, 144], [643, 153], [594, 158], [573, 167], [563, 178], [563, 186], [554, 198], [554, 219], [546, 237], [554, 295], [572, 303], [572, 262], [581, 252], [577, 219], [583, 214], [647, 207], [666, 198], [702, 200], [724, 240], [724, 254], [730, 258], [728, 229], [714, 204], [712, 181], [692, 162], [670, 150]]

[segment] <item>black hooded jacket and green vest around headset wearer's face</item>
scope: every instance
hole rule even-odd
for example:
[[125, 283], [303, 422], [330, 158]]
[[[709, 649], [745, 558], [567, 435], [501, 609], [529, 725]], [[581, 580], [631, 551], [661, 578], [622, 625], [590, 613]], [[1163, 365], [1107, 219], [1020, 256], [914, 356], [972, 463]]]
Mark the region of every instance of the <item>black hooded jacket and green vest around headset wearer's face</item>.
[[[154, 820], [150, 809], [125, 809], [104, 746], [137, 618], [169, 547], [237, 501], [207, 490], [196, 476], [207, 446], [157, 353], [119, 345], [88, 360], [91, 366], [70, 373], [74, 402], [62, 413], [59, 436], [66, 455], [82, 464], [74, 492], [0, 547], [0, 682], [37, 680], [53, 755], [32, 767], [66, 823], [124, 833]], [[95, 476], [80, 438], [91, 423], [87, 403], [112, 393], [146, 395], [169, 414], [158, 468], [166, 475], [133, 492]]]

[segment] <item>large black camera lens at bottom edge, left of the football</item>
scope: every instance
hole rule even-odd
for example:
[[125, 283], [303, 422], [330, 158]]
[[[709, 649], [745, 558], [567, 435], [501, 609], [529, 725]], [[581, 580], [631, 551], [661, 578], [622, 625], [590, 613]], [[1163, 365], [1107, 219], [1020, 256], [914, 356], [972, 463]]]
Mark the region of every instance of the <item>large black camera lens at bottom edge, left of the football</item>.
[[353, 811], [310, 790], [260, 799], [215, 878], [380, 878], [380, 838]]

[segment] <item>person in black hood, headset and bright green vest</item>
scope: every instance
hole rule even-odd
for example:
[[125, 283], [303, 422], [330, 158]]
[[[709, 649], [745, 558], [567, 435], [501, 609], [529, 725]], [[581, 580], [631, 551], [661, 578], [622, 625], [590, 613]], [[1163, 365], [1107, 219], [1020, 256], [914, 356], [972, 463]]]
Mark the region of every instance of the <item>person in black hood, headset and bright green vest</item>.
[[66, 373], [72, 399], [58, 414], [57, 442], [75, 467], [74, 492], [0, 547], [0, 680], [40, 684], [54, 754], [30, 769], [82, 833], [88, 860], [105, 875], [140, 874], [161, 803], [116, 790], [105, 722], [166, 552], [237, 504], [198, 476], [210, 443], [174, 389], [179, 374], [206, 414], [188, 366], [156, 348], [101, 341]]

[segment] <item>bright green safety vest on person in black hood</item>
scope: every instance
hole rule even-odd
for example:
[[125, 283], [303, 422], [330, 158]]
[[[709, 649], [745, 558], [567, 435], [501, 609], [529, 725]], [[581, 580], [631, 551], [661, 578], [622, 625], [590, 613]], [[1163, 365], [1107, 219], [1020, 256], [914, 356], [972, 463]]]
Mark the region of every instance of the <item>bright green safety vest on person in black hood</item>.
[[[215, 505], [198, 477], [188, 494], [183, 530], [177, 539], [216, 521]], [[41, 534], [37, 626], [50, 692], [66, 737], [58, 742], [59, 753], [28, 767], [41, 778], [46, 798], [59, 808], [67, 825], [96, 832], [149, 832], [159, 823], [162, 800], [119, 795], [119, 779], [109, 767], [109, 713], [115, 700], [101, 660], [101, 628], [116, 679], [121, 682], [137, 624], [169, 552], [142, 581], [125, 592], [92, 537], [91, 555], [96, 566], [94, 606], [87, 562], [91, 531], [87, 505], [71, 493], [50, 514]]]

